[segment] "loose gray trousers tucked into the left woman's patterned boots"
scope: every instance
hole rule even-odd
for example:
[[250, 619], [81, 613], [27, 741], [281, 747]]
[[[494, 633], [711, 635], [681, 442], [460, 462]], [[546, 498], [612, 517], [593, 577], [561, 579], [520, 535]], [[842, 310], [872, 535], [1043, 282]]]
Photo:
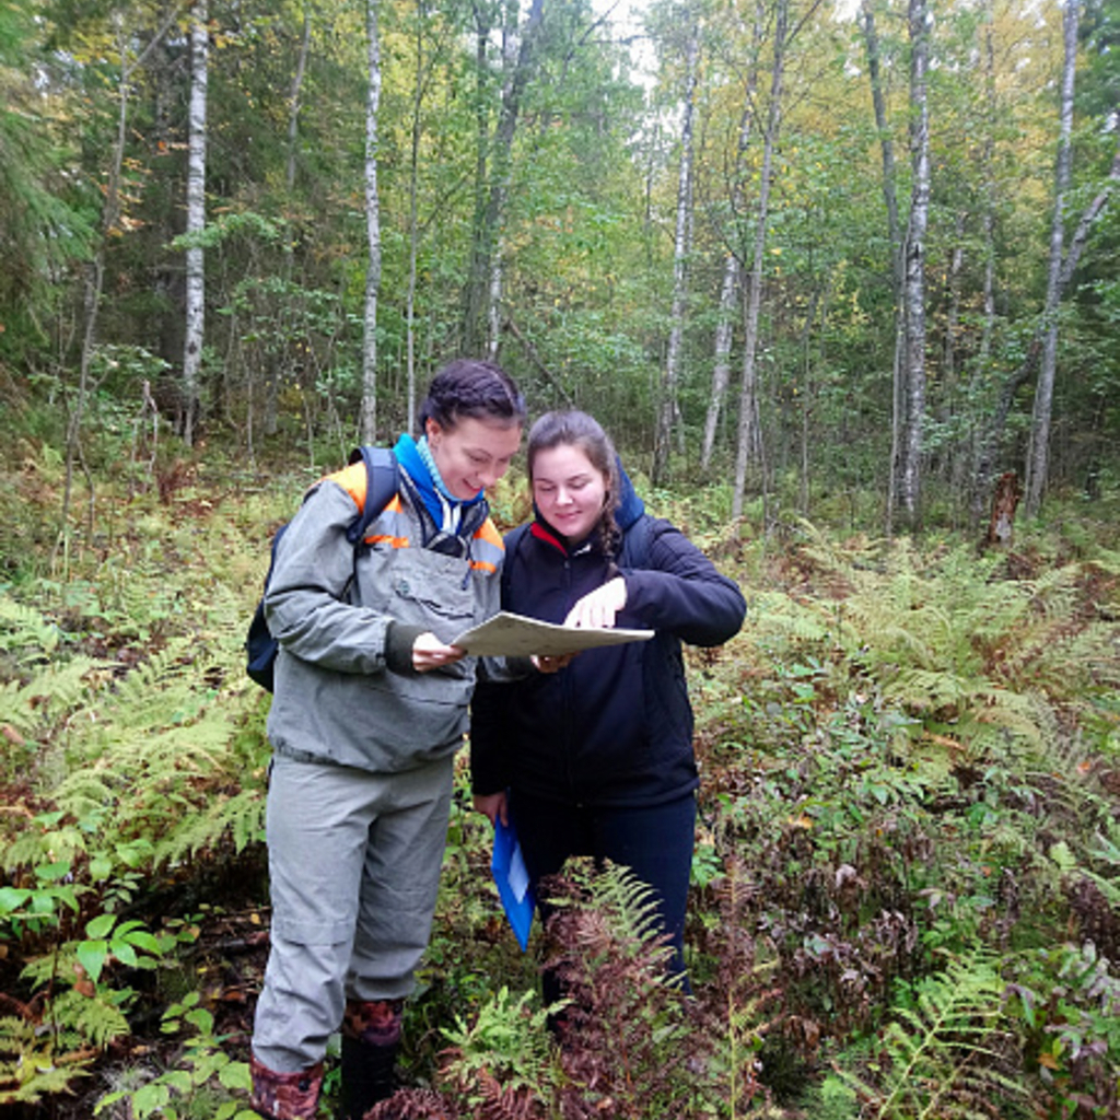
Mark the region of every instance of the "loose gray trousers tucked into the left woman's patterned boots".
[[454, 756], [402, 774], [277, 756], [267, 834], [272, 931], [253, 1054], [315, 1065], [347, 999], [408, 996], [428, 945]]

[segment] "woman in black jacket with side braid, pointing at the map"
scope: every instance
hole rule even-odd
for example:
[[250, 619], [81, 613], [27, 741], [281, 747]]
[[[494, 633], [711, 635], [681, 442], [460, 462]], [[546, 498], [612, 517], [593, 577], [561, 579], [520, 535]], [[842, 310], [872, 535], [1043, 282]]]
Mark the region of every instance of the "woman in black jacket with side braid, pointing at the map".
[[591, 417], [541, 417], [528, 456], [535, 520], [506, 538], [503, 608], [655, 637], [585, 651], [559, 673], [480, 684], [475, 808], [513, 820], [534, 888], [569, 856], [628, 867], [655, 892], [683, 977], [699, 775], [681, 642], [728, 641], [746, 604], [683, 533], [645, 513]]

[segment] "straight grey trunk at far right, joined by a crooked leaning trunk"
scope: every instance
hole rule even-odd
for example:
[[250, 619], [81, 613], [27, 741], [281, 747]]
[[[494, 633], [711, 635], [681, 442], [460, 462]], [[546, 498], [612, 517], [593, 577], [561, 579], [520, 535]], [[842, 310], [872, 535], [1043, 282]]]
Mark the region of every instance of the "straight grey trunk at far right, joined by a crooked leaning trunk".
[[1062, 263], [1065, 249], [1065, 196], [1073, 166], [1073, 84], [1077, 64], [1077, 16], [1081, 0], [1066, 0], [1062, 18], [1065, 62], [1062, 67], [1057, 165], [1054, 171], [1054, 216], [1051, 220], [1049, 264], [1046, 270], [1045, 339], [1027, 448], [1025, 506], [1028, 516], [1038, 513], [1046, 485], [1051, 417], [1054, 409], [1054, 373], [1057, 366], [1057, 311], [1062, 299]]

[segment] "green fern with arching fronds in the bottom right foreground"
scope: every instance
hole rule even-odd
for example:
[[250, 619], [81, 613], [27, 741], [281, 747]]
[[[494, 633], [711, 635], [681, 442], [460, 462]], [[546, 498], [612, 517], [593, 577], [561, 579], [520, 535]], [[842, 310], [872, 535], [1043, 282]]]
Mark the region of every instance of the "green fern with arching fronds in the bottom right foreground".
[[839, 1071], [876, 1120], [987, 1117], [995, 1095], [1021, 1096], [998, 1066], [1005, 984], [991, 958], [977, 952], [926, 978], [913, 1007], [896, 1007], [883, 1036], [877, 1079]]

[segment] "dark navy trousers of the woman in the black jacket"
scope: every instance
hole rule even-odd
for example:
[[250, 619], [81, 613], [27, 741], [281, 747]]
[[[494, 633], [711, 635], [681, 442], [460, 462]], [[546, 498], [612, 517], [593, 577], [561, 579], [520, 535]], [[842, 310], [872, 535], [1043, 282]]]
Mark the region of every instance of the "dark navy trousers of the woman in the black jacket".
[[[542, 920], [538, 884], [558, 872], [569, 856], [590, 856], [628, 867], [657, 898], [661, 927], [673, 948], [670, 971], [684, 977], [684, 913], [692, 870], [694, 793], [652, 806], [566, 805], [514, 791], [510, 811], [521, 839]], [[683, 980], [688, 989], [687, 978]], [[549, 996], [548, 986], [545, 995]]]

